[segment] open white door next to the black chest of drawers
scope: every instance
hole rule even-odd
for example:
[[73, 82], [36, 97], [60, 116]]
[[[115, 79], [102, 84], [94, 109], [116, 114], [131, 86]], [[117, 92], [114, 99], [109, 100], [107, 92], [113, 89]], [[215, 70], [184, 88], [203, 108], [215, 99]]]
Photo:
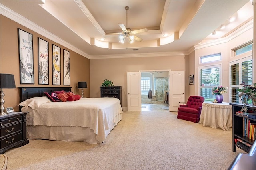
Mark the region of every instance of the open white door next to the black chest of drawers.
[[127, 73], [127, 110], [141, 111], [140, 72]]

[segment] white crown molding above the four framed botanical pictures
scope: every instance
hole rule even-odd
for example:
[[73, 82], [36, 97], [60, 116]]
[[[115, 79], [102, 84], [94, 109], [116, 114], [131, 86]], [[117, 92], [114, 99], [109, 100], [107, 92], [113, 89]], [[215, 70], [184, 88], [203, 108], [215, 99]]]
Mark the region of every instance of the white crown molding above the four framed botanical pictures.
[[81, 51], [80, 49], [74, 47], [74, 45], [71, 45], [70, 43], [62, 40], [61, 38], [59, 38], [58, 36], [48, 32], [47, 30], [45, 30], [44, 28], [38, 26], [37, 24], [35, 24], [34, 22], [31, 22], [30, 20], [28, 20], [27, 18], [21, 16], [20, 14], [17, 14], [16, 12], [14, 12], [13, 10], [10, 10], [9, 8], [7, 8], [6, 6], [2, 5], [0, 6], [0, 14], [3, 16], [6, 16], [7, 18], [17, 22], [18, 24], [21, 24], [22, 26], [25, 26], [27, 28], [29, 28], [30, 30], [37, 32], [38, 34], [41, 34], [42, 36], [49, 38], [50, 40], [63, 45], [64, 47], [71, 49], [72, 51], [90, 59], [90, 55], [88, 55], [87, 53], [84, 53], [83, 51]]

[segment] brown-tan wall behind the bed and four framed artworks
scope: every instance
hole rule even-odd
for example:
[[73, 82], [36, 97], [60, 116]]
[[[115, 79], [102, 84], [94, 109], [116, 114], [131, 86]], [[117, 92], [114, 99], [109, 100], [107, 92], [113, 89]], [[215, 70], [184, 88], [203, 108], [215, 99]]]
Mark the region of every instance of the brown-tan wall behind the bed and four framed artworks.
[[[79, 93], [78, 81], [87, 81], [87, 89], [84, 89], [84, 97], [90, 97], [90, 61], [89, 59], [71, 51], [70, 49], [52, 42], [50, 39], [6, 18], [1, 20], [1, 46], [0, 46], [0, 73], [14, 74], [16, 89], [4, 89], [4, 107], [14, 107], [18, 111], [20, 103], [19, 89], [17, 87], [64, 87], [63, 85], [63, 49], [70, 52], [70, 87], [76, 94]], [[18, 28], [33, 35], [34, 49], [34, 84], [20, 84], [19, 52], [18, 52]], [[49, 85], [38, 85], [38, 37], [49, 42]], [[52, 44], [61, 48], [61, 85], [52, 85]], [[69, 86], [66, 86], [69, 87]], [[79, 93], [81, 94], [81, 92]]]

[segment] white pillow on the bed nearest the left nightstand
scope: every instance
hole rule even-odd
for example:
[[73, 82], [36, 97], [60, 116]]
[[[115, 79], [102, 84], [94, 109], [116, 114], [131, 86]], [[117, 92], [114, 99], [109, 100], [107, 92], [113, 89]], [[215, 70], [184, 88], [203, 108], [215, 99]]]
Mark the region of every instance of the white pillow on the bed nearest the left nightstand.
[[37, 110], [37, 108], [47, 102], [52, 102], [48, 97], [42, 96], [42, 97], [33, 97], [30, 99], [27, 99], [25, 101], [22, 101], [18, 106], [29, 106], [34, 110]]

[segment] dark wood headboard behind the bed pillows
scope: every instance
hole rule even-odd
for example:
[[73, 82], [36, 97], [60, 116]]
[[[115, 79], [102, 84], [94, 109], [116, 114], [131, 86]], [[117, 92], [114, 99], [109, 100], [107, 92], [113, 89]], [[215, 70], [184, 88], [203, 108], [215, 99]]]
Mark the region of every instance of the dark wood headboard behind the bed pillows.
[[19, 87], [20, 102], [32, 97], [45, 96], [44, 92], [71, 91], [71, 87]]

